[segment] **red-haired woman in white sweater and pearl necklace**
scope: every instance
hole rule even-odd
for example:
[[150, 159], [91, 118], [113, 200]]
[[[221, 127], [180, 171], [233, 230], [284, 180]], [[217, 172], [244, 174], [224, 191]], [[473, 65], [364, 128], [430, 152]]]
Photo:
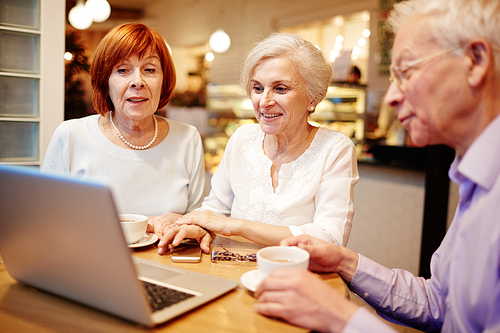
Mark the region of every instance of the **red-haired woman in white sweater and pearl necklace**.
[[198, 131], [155, 115], [175, 86], [167, 45], [143, 24], [115, 27], [97, 46], [91, 77], [98, 114], [60, 124], [42, 171], [108, 185], [119, 212], [150, 216], [148, 231], [161, 236], [205, 196]]

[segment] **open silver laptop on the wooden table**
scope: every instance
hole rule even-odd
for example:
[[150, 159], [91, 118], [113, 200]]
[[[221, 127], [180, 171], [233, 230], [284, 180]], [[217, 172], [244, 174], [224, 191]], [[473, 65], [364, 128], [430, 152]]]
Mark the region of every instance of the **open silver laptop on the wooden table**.
[[[148, 327], [239, 284], [133, 257], [109, 188], [28, 167], [0, 165], [0, 254], [19, 282]], [[146, 285], [175, 304], [153, 310]]]

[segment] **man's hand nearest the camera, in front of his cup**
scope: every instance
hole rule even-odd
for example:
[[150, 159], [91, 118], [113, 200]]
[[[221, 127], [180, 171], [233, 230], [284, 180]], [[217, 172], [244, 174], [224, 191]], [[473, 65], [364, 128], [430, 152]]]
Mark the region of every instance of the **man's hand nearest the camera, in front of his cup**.
[[304, 270], [274, 270], [257, 286], [254, 310], [320, 332], [340, 332], [358, 309]]

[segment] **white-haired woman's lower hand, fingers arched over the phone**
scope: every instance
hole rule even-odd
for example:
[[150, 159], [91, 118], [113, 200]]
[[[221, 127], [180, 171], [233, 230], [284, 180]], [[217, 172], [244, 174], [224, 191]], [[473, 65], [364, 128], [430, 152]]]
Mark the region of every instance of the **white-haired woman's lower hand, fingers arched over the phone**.
[[210, 253], [210, 243], [212, 243], [212, 235], [210, 233], [197, 226], [197, 225], [181, 225], [174, 226], [166, 230], [163, 237], [158, 243], [158, 253], [164, 254], [168, 252], [168, 246], [178, 246], [184, 238], [193, 238], [200, 243], [200, 248], [204, 253]]

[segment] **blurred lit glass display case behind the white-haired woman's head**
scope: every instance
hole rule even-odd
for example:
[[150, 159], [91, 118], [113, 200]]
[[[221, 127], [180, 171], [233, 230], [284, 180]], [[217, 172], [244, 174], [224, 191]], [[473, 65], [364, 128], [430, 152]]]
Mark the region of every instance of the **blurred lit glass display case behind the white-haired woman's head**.
[[[361, 153], [365, 129], [365, 86], [332, 83], [316, 107], [310, 122], [349, 136]], [[219, 165], [227, 141], [234, 131], [256, 123], [252, 103], [240, 85], [207, 86], [208, 124], [203, 135], [205, 163], [211, 174]]]

